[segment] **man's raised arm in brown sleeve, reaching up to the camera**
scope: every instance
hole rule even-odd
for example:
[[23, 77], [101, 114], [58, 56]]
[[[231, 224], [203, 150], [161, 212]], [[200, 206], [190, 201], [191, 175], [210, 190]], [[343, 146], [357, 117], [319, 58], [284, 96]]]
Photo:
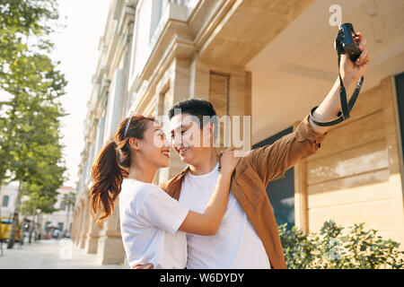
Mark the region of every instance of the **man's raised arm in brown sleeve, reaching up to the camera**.
[[[355, 40], [361, 51], [356, 63], [353, 63], [346, 54], [341, 56], [339, 73], [347, 94], [351, 94], [357, 80], [364, 75], [370, 62], [369, 53], [365, 48], [366, 40], [360, 33], [356, 35]], [[339, 79], [337, 79], [312, 117], [317, 122], [329, 122], [337, 117], [340, 109]], [[250, 151], [243, 161], [249, 161], [248, 163], [257, 170], [259, 177], [267, 185], [269, 180], [292, 168], [297, 161], [317, 152], [328, 130], [329, 126], [317, 126], [307, 115], [293, 133], [281, 137], [273, 144]]]

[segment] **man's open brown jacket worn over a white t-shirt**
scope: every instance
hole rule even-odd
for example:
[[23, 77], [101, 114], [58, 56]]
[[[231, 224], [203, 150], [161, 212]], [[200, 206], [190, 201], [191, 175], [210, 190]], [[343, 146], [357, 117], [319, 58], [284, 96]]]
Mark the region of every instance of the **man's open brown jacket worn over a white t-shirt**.
[[[269, 180], [283, 174], [297, 161], [320, 148], [327, 133], [316, 133], [308, 118], [308, 115], [304, 117], [293, 133], [283, 136], [273, 144], [250, 151], [241, 158], [232, 175], [230, 190], [257, 231], [271, 267], [275, 269], [285, 269], [286, 264], [266, 187]], [[188, 170], [189, 167], [162, 183], [162, 189], [178, 200], [182, 178]]]

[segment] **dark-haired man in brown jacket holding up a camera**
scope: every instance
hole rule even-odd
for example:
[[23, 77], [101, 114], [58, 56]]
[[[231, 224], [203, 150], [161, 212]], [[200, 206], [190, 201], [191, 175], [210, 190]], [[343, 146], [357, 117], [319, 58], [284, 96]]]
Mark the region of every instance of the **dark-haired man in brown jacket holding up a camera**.
[[[340, 74], [347, 95], [370, 61], [366, 40], [360, 33], [356, 42], [362, 52], [356, 63], [346, 55], [341, 57]], [[340, 109], [338, 89], [339, 80], [313, 113], [315, 120], [327, 122], [336, 117]], [[214, 191], [220, 156], [214, 146], [217, 126], [212, 121], [204, 125], [203, 116], [215, 116], [215, 109], [206, 100], [183, 100], [169, 111], [172, 148], [189, 166], [161, 186], [199, 213], [204, 212]], [[315, 125], [307, 115], [293, 133], [243, 156], [234, 170], [229, 203], [217, 233], [208, 237], [187, 235], [187, 268], [286, 268], [266, 187], [269, 180], [317, 152], [328, 130], [328, 126]], [[200, 144], [206, 139], [207, 146]]]

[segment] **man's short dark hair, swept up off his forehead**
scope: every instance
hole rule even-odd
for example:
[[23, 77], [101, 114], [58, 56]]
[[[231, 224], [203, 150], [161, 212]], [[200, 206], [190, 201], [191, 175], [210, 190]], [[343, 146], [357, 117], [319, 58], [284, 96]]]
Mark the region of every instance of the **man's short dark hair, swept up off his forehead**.
[[[217, 115], [216, 111], [212, 105], [212, 103], [208, 100], [203, 99], [187, 99], [180, 100], [177, 102], [168, 112], [168, 116], [171, 119], [175, 116], [175, 109], [180, 109], [181, 114], [189, 114], [191, 116], [195, 116], [199, 118], [200, 128], [204, 126], [203, 116], [209, 116], [211, 120], [208, 122], [213, 122], [215, 125], [214, 128], [214, 139], [217, 136]], [[216, 117], [215, 117], [216, 116]]]

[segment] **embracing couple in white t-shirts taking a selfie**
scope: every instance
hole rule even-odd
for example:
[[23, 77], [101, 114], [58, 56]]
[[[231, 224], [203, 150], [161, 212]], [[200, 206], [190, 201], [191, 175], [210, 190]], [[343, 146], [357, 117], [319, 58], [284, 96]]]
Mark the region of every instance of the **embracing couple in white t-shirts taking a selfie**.
[[[356, 41], [359, 61], [341, 58], [347, 91], [369, 64], [362, 35]], [[337, 116], [338, 87], [337, 80], [313, 118]], [[154, 117], [127, 117], [94, 162], [92, 213], [101, 211], [101, 222], [119, 201], [131, 268], [286, 268], [266, 187], [317, 152], [329, 127], [307, 115], [293, 133], [237, 157], [233, 149], [216, 152], [216, 123], [195, 120], [215, 115], [206, 100], [176, 103], [169, 111], [170, 142]], [[158, 187], [152, 181], [157, 170], [169, 166], [171, 148], [188, 166]]]

